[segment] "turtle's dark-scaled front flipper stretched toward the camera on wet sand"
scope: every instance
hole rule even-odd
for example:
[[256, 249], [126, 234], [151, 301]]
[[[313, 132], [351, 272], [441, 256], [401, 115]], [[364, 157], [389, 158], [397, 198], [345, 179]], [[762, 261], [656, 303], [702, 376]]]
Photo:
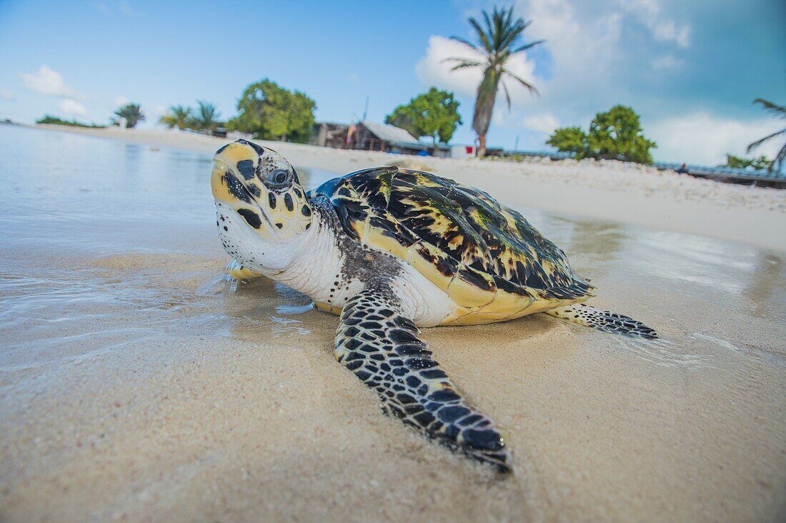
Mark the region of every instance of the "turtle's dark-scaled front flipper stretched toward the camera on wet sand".
[[336, 333], [336, 360], [376, 390], [384, 411], [499, 470], [511, 455], [494, 422], [468, 406], [439, 368], [386, 283], [351, 298]]

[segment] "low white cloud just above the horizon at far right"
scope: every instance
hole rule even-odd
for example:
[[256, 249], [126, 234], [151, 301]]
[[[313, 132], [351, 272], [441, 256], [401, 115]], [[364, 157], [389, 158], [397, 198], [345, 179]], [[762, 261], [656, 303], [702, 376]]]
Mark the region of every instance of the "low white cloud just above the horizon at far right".
[[[645, 125], [645, 134], [658, 144], [656, 158], [705, 165], [725, 162], [726, 153], [747, 156], [747, 144], [780, 129], [777, 119], [743, 121], [696, 112]], [[783, 141], [769, 141], [751, 153], [773, 159]]]

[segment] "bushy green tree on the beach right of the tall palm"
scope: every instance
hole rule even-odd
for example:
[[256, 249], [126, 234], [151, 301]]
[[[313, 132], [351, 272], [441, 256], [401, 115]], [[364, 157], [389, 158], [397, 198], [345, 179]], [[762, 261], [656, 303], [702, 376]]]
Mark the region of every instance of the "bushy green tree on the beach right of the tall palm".
[[639, 115], [630, 107], [615, 105], [599, 112], [589, 124], [589, 133], [578, 127], [557, 129], [545, 142], [578, 159], [605, 158], [623, 162], [652, 163], [649, 150], [657, 144], [641, 129]]

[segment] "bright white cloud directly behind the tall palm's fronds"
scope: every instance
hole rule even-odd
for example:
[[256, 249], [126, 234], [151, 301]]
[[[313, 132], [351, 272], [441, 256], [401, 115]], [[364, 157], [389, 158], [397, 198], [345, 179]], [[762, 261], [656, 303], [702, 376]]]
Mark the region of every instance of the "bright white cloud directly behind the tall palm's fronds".
[[[445, 62], [446, 58], [459, 57], [468, 60], [482, 60], [482, 55], [461, 42], [450, 40], [442, 36], [428, 38], [426, 56], [421, 58], [415, 66], [417, 78], [424, 86], [437, 86], [451, 90], [464, 97], [475, 97], [476, 90], [483, 75], [482, 68], [464, 68], [451, 71], [455, 62]], [[538, 86], [541, 82], [534, 76], [534, 63], [527, 58], [526, 53], [513, 55], [506, 64], [506, 68], [513, 74], [520, 76]], [[531, 97], [529, 91], [518, 82], [508, 79], [508, 90], [512, 104], [524, 104]], [[500, 86], [500, 93], [504, 101], [505, 95]], [[498, 97], [498, 101], [500, 98]]]

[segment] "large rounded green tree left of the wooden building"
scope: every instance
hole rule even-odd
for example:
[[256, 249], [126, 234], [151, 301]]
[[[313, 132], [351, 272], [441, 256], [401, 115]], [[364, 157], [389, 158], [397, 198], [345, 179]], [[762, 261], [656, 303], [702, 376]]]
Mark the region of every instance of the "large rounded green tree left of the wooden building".
[[274, 140], [308, 141], [317, 104], [300, 91], [290, 91], [263, 79], [244, 90], [237, 102], [237, 117], [227, 126]]

